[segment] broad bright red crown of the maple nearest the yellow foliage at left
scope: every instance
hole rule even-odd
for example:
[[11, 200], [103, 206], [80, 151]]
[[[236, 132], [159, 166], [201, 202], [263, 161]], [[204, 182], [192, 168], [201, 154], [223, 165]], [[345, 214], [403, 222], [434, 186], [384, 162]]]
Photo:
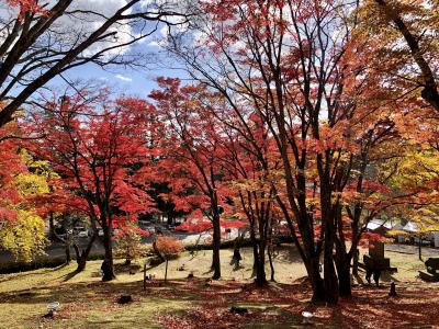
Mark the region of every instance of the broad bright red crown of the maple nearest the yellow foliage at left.
[[[136, 216], [151, 211], [154, 203], [142, 188], [148, 181], [155, 113], [145, 100], [110, 101], [108, 91], [65, 97], [36, 112], [29, 131], [44, 138], [29, 147], [50, 161], [61, 177], [63, 190], [75, 191], [93, 218], [111, 222], [110, 207]], [[103, 109], [98, 103], [104, 103]], [[70, 196], [72, 196], [70, 195]], [[55, 196], [55, 195], [54, 195]], [[58, 193], [53, 201], [65, 203]], [[83, 209], [82, 209], [83, 211]]]

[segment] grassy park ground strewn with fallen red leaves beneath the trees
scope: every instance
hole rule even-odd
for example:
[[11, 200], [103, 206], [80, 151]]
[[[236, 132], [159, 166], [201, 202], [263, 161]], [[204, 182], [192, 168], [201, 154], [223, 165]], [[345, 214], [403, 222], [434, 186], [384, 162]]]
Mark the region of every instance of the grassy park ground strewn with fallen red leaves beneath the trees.
[[[211, 252], [184, 253], [169, 262], [166, 284], [164, 264], [148, 270], [157, 279], [146, 291], [142, 266], [130, 274], [122, 260], [117, 279], [110, 283], [100, 281], [100, 261], [90, 261], [76, 275], [74, 263], [0, 275], [0, 328], [302, 328], [304, 310], [314, 314], [317, 328], [439, 328], [439, 283], [416, 277], [424, 264], [414, 254], [386, 251], [398, 272], [385, 274], [380, 287], [360, 279], [353, 297], [336, 307], [309, 303], [305, 269], [293, 249], [279, 252], [277, 283], [264, 288], [251, 284], [250, 250], [243, 256], [243, 266], [234, 271], [232, 250], [222, 250], [223, 279], [210, 281]], [[188, 279], [191, 272], [194, 277]], [[387, 295], [391, 281], [396, 282], [396, 297]], [[131, 295], [133, 302], [120, 305], [121, 295]], [[59, 311], [55, 318], [44, 317], [55, 300]], [[235, 315], [233, 306], [248, 313]]]

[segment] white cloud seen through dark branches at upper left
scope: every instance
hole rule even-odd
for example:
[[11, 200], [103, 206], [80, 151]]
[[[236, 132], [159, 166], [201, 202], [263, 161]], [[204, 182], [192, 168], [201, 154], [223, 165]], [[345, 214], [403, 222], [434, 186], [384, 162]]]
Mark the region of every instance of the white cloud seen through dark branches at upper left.
[[[52, 8], [58, 0], [45, 0], [47, 8]], [[61, 15], [50, 26], [47, 35], [44, 35], [38, 41], [44, 47], [49, 41], [52, 46], [57, 48], [58, 52], [68, 52], [72, 46], [77, 46], [85, 41], [91, 33], [98, 30], [104, 23], [104, 18], [112, 16], [117, 10], [126, 5], [128, 0], [75, 0], [68, 7], [66, 14]], [[125, 11], [127, 14], [133, 11], [148, 11], [154, 13], [158, 10], [179, 11], [184, 10], [181, 0], [142, 0], [133, 9]], [[95, 14], [93, 14], [93, 12]], [[16, 8], [2, 5], [0, 1], [0, 20], [8, 21], [18, 14]], [[154, 15], [154, 14], [151, 14]], [[182, 23], [183, 18], [179, 16], [162, 16], [162, 20], [169, 21], [172, 24]], [[0, 24], [1, 25], [1, 24]], [[4, 25], [4, 24], [3, 24]], [[110, 26], [105, 34], [105, 38], [100, 39], [90, 47], [88, 47], [82, 55], [91, 57], [103, 49], [108, 49], [102, 59], [108, 60], [117, 55], [127, 55], [132, 45], [121, 47], [120, 45], [130, 44], [135, 38], [140, 38], [140, 44], [145, 43], [151, 47], [160, 47], [166, 45], [166, 39], [169, 35], [168, 27], [165, 24], [159, 26], [157, 33], [142, 38], [148, 34], [155, 24], [144, 26], [140, 21], [123, 21], [117, 22]], [[172, 30], [179, 32], [188, 29], [188, 24], [173, 26]], [[5, 29], [0, 30], [0, 43], [5, 37]], [[114, 33], [114, 34], [113, 34]], [[37, 43], [38, 43], [37, 42]]]

